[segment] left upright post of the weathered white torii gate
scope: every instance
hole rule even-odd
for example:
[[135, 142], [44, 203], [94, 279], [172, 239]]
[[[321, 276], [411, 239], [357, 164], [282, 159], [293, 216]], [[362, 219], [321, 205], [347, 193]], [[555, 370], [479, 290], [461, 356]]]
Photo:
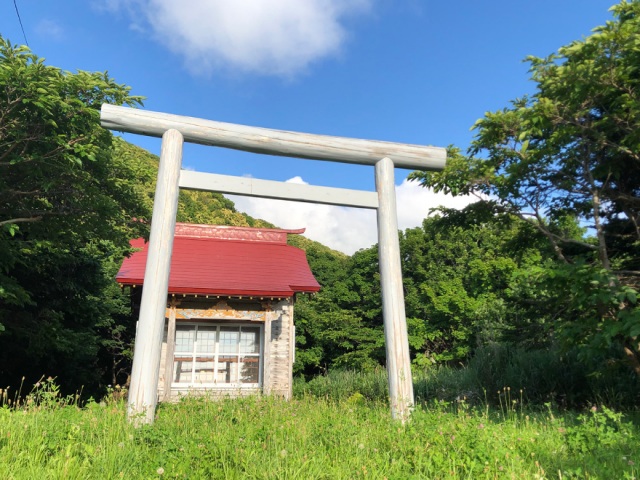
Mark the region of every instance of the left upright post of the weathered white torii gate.
[[162, 136], [156, 195], [140, 317], [136, 331], [129, 387], [129, 420], [153, 423], [158, 403], [158, 376], [164, 316], [167, 309], [171, 252], [178, 211], [178, 180], [182, 164], [182, 134], [168, 130]]

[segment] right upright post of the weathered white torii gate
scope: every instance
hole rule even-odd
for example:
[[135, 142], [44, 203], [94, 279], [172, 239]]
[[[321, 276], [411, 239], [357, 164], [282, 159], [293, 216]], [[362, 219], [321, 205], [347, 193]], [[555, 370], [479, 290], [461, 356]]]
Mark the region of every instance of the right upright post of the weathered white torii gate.
[[393, 170], [393, 162], [388, 158], [380, 160], [375, 168], [376, 190], [380, 200], [378, 256], [391, 416], [405, 422], [411, 414], [414, 399]]

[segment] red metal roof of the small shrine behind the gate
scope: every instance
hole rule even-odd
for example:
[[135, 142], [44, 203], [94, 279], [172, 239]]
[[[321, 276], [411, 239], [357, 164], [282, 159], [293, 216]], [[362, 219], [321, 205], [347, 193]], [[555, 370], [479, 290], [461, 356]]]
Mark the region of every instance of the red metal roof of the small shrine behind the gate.
[[[300, 232], [178, 224], [169, 293], [290, 297], [317, 292], [320, 285], [305, 252], [286, 244], [287, 233]], [[148, 244], [136, 239], [131, 245], [141, 250], [124, 260], [116, 280], [142, 285]]]

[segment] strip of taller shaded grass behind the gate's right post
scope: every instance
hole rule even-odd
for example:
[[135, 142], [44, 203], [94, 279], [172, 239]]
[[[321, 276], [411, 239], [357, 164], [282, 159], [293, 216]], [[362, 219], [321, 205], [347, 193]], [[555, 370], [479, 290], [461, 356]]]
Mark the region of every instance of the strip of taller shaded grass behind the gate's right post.
[[[640, 405], [640, 382], [619, 364], [608, 371], [585, 365], [575, 356], [553, 350], [528, 351], [506, 345], [480, 348], [464, 366], [414, 368], [413, 386], [417, 403], [456, 402], [500, 406], [509, 392], [511, 401], [529, 408], [548, 403], [561, 408], [584, 409], [604, 404], [616, 409]], [[294, 393], [334, 400], [362, 395], [365, 400], [385, 402], [388, 397], [386, 371], [330, 371], [309, 381], [296, 379]]]

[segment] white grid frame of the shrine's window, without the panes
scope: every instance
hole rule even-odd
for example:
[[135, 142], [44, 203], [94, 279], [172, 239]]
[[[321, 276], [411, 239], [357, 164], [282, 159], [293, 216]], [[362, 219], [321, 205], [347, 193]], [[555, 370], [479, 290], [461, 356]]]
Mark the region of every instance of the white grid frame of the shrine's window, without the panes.
[[[189, 389], [189, 388], [203, 388], [203, 389], [250, 389], [254, 390], [257, 388], [262, 388], [263, 376], [264, 376], [264, 325], [262, 323], [257, 322], [229, 322], [229, 321], [204, 321], [204, 322], [176, 322], [176, 335], [178, 332], [178, 328], [180, 327], [191, 327], [196, 332], [194, 341], [193, 341], [193, 349], [191, 352], [177, 352], [176, 347], [174, 347], [173, 352], [173, 372], [171, 375], [171, 388], [172, 389]], [[216, 328], [216, 347], [215, 352], [212, 354], [207, 353], [197, 353], [197, 329], [198, 327], [215, 327]], [[221, 327], [235, 327], [238, 328], [239, 331], [242, 331], [242, 327], [251, 327], [259, 329], [259, 353], [258, 354], [243, 354], [239, 351], [236, 353], [224, 353], [220, 352], [220, 328]], [[190, 382], [176, 382], [176, 371], [175, 371], [175, 358], [176, 356], [188, 356], [192, 357], [191, 363], [191, 381]], [[231, 383], [219, 383], [219, 382], [197, 382], [195, 379], [195, 368], [196, 368], [196, 357], [211, 357], [214, 359], [214, 371], [217, 371], [218, 367], [218, 358], [221, 356], [236, 356], [237, 362], [240, 361], [241, 356], [255, 356], [258, 360], [258, 383], [241, 383], [241, 382], [231, 382]], [[215, 377], [215, 375], [214, 375]]]

